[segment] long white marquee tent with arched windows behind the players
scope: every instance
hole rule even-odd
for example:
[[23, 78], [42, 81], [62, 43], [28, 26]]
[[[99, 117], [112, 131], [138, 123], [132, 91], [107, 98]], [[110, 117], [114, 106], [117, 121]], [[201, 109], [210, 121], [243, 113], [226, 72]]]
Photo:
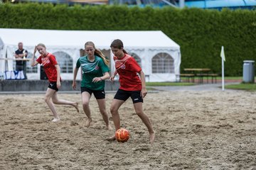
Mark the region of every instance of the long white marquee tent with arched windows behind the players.
[[[47, 51], [56, 56], [63, 79], [73, 79], [73, 68], [80, 57], [85, 42], [92, 41], [111, 59], [112, 40], [124, 42], [124, 49], [142, 66], [146, 81], [176, 81], [181, 64], [180, 46], [159, 30], [156, 31], [85, 31], [85, 30], [31, 30], [0, 28], [0, 72], [15, 68], [14, 52], [18, 42], [31, 57], [35, 45], [42, 42]], [[106, 54], [106, 52], [108, 52]], [[38, 57], [39, 54], [36, 53]], [[8, 58], [9, 60], [6, 60]], [[30, 68], [27, 64], [28, 79], [40, 79], [40, 67]], [[78, 77], [79, 78], [79, 77]]]

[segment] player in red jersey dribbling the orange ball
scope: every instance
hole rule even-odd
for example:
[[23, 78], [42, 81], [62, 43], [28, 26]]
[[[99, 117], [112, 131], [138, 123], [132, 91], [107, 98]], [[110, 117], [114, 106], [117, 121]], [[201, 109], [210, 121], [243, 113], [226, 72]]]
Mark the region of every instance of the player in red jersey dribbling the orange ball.
[[[114, 54], [115, 63], [115, 71], [112, 77], [110, 77], [110, 80], [113, 81], [114, 77], [119, 74], [120, 84], [117, 94], [115, 94], [110, 106], [115, 130], [120, 128], [118, 109], [129, 97], [131, 97], [132, 102], [134, 103], [135, 112], [139, 115], [139, 118], [142, 119], [142, 122], [149, 130], [149, 142], [152, 144], [154, 142], [155, 132], [148, 116], [142, 109], [143, 98], [147, 93], [144, 72], [142, 71], [142, 68], [139, 67], [136, 60], [124, 50], [124, 45], [121, 40], [114, 40], [110, 47]], [[108, 140], [115, 140], [115, 137], [112, 136]]]

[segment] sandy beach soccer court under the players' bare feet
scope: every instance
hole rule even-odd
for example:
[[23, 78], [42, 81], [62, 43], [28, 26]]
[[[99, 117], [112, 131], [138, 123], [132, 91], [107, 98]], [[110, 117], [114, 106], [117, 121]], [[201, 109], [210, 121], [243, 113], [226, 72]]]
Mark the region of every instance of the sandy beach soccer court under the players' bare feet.
[[[85, 128], [80, 94], [58, 94], [78, 101], [56, 106], [44, 94], [0, 95], [0, 169], [255, 169], [256, 94], [247, 91], [160, 91], [144, 99], [144, 112], [156, 130], [154, 145], [129, 99], [119, 109], [128, 142], [108, 142], [92, 97], [92, 124]], [[107, 94], [107, 111], [114, 94]], [[114, 128], [110, 115], [110, 125]]]

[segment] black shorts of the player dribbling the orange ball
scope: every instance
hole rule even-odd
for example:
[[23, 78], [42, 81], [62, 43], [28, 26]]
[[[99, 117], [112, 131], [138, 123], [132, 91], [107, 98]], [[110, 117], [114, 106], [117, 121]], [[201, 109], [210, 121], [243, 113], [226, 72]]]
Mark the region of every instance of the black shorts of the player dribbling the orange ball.
[[122, 89], [118, 89], [117, 94], [114, 95], [114, 98], [122, 101], [127, 101], [127, 99], [131, 97], [133, 103], [143, 103], [143, 99], [140, 93], [141, 91], [124, 91]]

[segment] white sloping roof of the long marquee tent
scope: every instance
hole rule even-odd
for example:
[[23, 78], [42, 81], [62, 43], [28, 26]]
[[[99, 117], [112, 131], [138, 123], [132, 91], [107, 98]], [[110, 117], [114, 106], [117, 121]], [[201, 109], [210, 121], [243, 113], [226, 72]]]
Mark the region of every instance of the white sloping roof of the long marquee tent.
[[91, 31], [91, 30], [32, 30], [0, 28], [0, 38], [6, 45], [34, 46], [42, 42], [46, 47], [84, 48], [87, 41], [92, 41], [98, 48], [109, 49], [112, 40], [120, 39], [125, 48], [168, 48], [179, 49], [171, 38], [160, 30], [152, 31]]

